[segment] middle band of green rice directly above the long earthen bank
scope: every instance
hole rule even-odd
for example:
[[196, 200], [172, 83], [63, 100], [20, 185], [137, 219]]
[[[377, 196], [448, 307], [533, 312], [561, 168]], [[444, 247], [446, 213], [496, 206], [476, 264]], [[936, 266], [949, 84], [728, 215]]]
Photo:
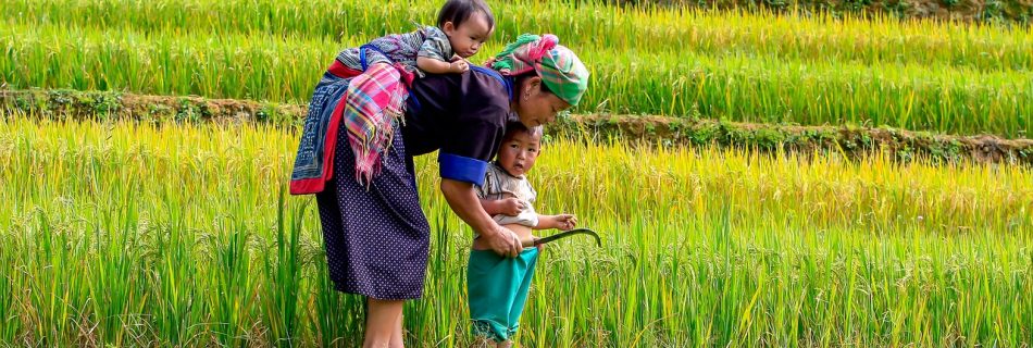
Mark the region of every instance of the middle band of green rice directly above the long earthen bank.
[[[128, 90], [300, 102], [345, 46], [327, 38], [185, 34], [65, 24], [0, 28], [12, 87]], [[485, 48], [498, 50], [498, 44]], [[805, 125], [887, 125], [956, 134], [1033, 133], [1033, 73], [947, 63], [796, 60], [757, 53], [578, 49], [592, 87], [577, 112]]]

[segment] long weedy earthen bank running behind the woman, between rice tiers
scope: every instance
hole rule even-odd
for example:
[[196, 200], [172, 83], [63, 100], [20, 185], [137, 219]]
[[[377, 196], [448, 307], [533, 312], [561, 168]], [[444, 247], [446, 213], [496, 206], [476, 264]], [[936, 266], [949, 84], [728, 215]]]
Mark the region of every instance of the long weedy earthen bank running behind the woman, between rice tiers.
[[[199, 97], [144, 96], [67, 89], [0, 89], [0, 113], [33, 120], [139, 121], [146, 123], [252, 122], [298, 130], [300, 104]], [[935, 135], [887, 127], [748, 124], [695, 117], [578, 114], [560, 117], [546, 137], [609, 139], [649, 146], [721, 146], [798, 154], [835, 152], [847, 158], [882, 152], [899, 161], [974, 161], [1033, 165], [1033, 140]]]

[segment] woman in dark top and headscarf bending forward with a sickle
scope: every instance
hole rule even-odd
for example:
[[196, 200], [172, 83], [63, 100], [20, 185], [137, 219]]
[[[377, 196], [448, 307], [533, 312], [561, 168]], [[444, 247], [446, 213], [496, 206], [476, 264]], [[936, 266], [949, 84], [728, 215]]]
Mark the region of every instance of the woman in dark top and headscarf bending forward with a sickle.
[[[316, 86], [291, 181], [338, 174], [325, 186], [320, 182], [316, 202], [331, 278], [337, 290], [366, 297], [364, 347], [401, 347], [403, 301], [423, 295], [430, 225], [416, 196], [413, 156], [439, 150], [440, 189], [452, 211], [495, 252], [520, 253], [515, 234], [482, 209], [473, 185], [484, 179], [508, 120], [528, 127], [548, 124], [584, 95], [587, 70], [547, 37], [552, 39], [522, 37], [498, 55], [495, 66], [513, 76], [474, 66], [413, 82], [405, 126], [394, 123], [401, 136], [384, 146], [378, 173], [368, 185], [346, 175], [356, 171], [356, 154], [344, 146], [347, 132], [336, 132], [339, 124], [329, 121], [349, 80], [332, 66]], [[368, 73], [388, 66], [377, 64]], [[328, 134], [336, 137], [329, 142], [340, 146], [327, 147]], [[323, 170], [323, 160], [331, 167]]]

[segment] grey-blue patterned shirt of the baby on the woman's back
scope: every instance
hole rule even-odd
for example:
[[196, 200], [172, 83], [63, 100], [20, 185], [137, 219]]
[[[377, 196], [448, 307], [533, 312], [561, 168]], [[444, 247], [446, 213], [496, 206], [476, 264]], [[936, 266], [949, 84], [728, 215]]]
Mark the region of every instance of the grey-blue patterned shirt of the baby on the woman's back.
[[[406, 34], [393, 34], [378, 37], [369, 45], [376, 47], [379, 52], [365, 50], [366, 66], [374, 63], [399, 63], [406, 71], [423, 77], [423, 71], [416, 66], [418, 57], [426, 57], [448, 62], [455, 52], [448, 36], [435, 26], [421, 26], [419, 29]], [[381, 54], [383, 52], [384, 54]], [[386, 54], [386, 57], [385, 57]], [[337, 53], [337, 60], [351, 70], [363, 71], [362, 54], [358, 47], [352, 47]]]

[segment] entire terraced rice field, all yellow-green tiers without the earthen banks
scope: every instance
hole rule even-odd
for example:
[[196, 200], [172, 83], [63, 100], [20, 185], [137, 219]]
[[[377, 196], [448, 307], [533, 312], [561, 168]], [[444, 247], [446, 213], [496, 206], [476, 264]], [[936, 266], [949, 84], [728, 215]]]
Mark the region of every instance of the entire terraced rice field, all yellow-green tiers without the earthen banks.
[[[303, 104], [338, 50], [438, 5], [373, 3], [4, 1], [0, 88]], [[1033, 133], [1030, 26], [491, 5], [483, 52], [548, 32], [585, 60], [578, 113]], [[286, 194], [298, 130], [0, 111], [0, 346], [359, 346], [314, 199]], [[530, 175], [536, 210], [603, 245], [546, 248], [518, 347], [1033, 344], [1026, 164], [600, 138], [548, 138]], [[436, 165], [415, 163], [432, 247], [406, 346], [469, 347], [472, 231]]]

